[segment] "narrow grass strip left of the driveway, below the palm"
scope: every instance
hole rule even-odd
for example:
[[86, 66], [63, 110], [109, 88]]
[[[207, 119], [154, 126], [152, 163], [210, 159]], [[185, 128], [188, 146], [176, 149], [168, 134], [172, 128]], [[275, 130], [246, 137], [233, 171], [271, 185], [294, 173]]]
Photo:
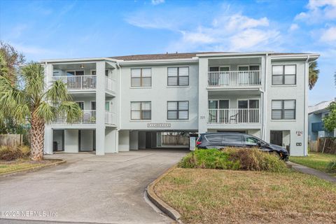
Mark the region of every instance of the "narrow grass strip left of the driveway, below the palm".
[[15, 161], [2, 161], [0, 160], [0, 174], [6, 174], [11, 172], [18, 172], [22, 169], [40, 167], [52, 162], [58, 162], [57, 160], [43, 160], [41, 162], [34, 162], [29, 159], [20, 159]]

